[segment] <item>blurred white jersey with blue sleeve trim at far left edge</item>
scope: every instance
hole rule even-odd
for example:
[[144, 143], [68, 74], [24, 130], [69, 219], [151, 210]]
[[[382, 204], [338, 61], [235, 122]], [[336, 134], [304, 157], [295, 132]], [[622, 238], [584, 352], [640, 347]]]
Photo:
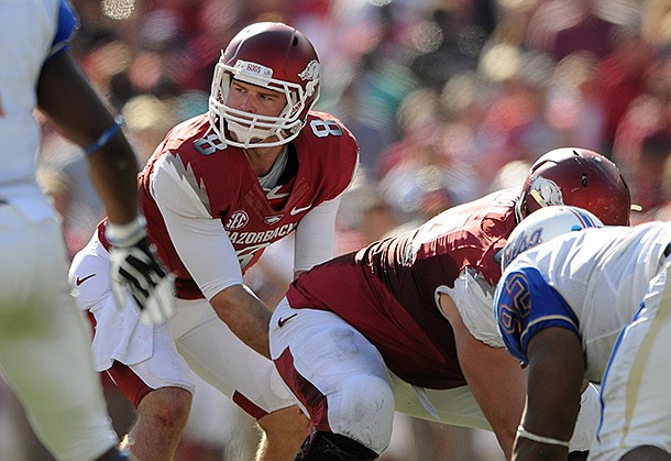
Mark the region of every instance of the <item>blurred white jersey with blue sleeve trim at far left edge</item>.
[[76, 26], [66, 0], [0, 1], [0, 200], [32, 219], [51, 212], [35, 178], [35, 88], [44, 62], [68, 46]]

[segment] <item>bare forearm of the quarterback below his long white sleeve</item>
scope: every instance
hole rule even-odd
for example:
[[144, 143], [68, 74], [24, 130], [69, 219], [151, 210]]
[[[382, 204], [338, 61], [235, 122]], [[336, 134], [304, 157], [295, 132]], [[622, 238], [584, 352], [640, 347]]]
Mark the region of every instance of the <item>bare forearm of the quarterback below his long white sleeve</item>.
[[233, 285], [210, 299], [217, 316], [245, 344], [260, 354], [271, 358], [268, 323], [271, 310], [242, 285]]

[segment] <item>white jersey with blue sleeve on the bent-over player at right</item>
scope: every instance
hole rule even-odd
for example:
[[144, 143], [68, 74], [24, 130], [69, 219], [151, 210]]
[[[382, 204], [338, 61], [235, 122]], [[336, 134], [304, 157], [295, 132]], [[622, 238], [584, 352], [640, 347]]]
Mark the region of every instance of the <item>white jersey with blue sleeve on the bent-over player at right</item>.
[[536, 332], [566, 328], [581, 338], [585, 378], [600, 382], [670, 242], [671, 224], [654, 222], [570, 232], [520, 254], [494, 298], [506, 347], [526, 362]]

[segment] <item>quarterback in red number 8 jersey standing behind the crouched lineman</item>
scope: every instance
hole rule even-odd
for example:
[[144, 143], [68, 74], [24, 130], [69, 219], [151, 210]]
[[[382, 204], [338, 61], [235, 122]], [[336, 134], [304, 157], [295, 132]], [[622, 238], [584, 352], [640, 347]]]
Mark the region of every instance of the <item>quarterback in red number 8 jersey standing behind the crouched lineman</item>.
[[319, 72], [312, 44], [294, 28], [245, 28], [215, 68], [209, 112], [170, 130], [141, 172], [150, 238], [176, 276], [166, 325], [117, 309], [100, 277], [109, 270], [105, 222], [75, 257], [70, 279], [96, 321], [96, 366], [135, 405], [128, 439], [143, 461], [173, 459], [194, 372], [258, 420], [258, 458], [289, 459], [308, 433], [270, 360], [271, 310], [242, 275], [290, 233], [296, 273], [333, 255], [359, 147], [338, 119], [311, 110]]

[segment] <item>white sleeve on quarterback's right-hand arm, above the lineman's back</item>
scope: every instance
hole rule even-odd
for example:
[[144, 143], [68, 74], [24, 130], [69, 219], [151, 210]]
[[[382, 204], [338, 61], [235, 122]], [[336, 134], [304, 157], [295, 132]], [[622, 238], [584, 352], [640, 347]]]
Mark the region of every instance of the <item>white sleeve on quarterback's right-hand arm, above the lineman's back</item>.
[[342, 195], [324, 201], [302, 217], [296, 227], [294, 273], [308, 271], [333, 257], [336, 216]]

